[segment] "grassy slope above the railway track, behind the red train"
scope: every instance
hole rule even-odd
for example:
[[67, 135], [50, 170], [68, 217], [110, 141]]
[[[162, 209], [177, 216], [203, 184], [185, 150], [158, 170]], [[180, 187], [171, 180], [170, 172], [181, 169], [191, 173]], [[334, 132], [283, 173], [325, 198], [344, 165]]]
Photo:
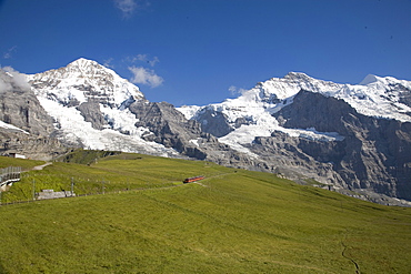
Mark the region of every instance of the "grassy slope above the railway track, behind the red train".
[[[8, 165], [24, 165], [24, 160], [4, 158], [4, 162], [6, 160]], [[41, 190], [71, 191], [72, 183], [77, 195], [90, 195], [172, 186], [181, 184], [187, 176], [198, 175], [199, 172], [207, 176], [227, 172], [223, 168], [208, 162], [84, 150], [68, 154], [63, 161], [69, 163], [54, 162], [43, 170], [31, 171], [34, 165], [44, 162], [28, 161], [21, 182], [14, 184], [9, 192], [2, 193], [0, 202], [7, 204], [32, 201], [33, 192], [39, 193]]]

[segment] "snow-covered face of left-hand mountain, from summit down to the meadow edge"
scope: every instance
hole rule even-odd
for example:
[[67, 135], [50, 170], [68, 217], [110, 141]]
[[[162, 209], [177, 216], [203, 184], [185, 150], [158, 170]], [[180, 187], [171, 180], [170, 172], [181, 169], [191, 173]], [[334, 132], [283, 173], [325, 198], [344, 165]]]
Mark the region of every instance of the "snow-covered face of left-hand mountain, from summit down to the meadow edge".
[[176, 153], [141, 139], [147, 129], [136, 128], [139, 120], [128, 106], [144, 101], [143, 93], [96, 61], [81, 58], [64, 68], [28, 75], [28, 80], [66, 143], [94, 150]]

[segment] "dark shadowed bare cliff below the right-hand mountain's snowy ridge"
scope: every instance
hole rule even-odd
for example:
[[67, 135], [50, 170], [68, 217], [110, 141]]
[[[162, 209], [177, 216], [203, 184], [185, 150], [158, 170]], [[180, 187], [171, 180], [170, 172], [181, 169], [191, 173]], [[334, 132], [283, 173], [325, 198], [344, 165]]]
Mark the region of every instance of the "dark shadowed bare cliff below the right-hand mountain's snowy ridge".
[[307, 91], [274, 116], [284, 128], [315, 128], [344, 136], [334, 143], [299, 141], [297, 148], [329, 164], [348, 187], [411, 200], [411, 123], [365, 116], [342, 100]]

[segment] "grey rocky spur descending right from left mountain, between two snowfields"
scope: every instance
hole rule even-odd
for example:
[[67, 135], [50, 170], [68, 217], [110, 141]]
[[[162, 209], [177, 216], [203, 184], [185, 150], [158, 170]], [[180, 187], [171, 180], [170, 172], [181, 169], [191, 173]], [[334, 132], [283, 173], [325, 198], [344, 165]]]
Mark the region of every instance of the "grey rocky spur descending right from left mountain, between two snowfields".
[[245, 168], [251, 163], [247, 155], [221, 144], [212, 134], [202, 132], [197, 121], [187, 120], [172, 104], [136, 101], [130, 105], [130, 111], [138, 119], [136, 126], [147, 129], [142, 134], [147, 141], [173, 148], [192, 159], [235, 168]]

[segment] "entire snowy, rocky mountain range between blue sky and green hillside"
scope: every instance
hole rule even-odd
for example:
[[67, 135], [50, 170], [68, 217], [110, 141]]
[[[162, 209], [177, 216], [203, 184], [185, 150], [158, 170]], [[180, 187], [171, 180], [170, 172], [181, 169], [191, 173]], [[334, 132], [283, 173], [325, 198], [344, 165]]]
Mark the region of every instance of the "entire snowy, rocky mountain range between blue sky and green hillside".
[[96, 61], [0, 70], [1, 154], [73, 148], [212, 161], [384, 204], [411, 203], [411, 82], [340, 84], [290, 72], [203, 106], [150, 102]]

